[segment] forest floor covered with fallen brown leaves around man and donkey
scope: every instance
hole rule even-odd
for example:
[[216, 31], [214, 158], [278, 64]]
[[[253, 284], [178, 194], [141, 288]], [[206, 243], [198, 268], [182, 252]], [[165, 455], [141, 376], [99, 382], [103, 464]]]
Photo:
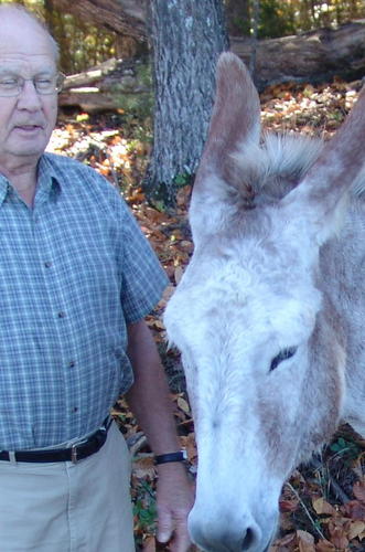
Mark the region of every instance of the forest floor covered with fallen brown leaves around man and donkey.
[[[331, 85], [280, 85], [261, 94], [262, 125], [278, 131], [301, 131], [331, 137], [354, 104], [359, 82]], [[149, 121], [146, 121], [146, 126]], [[180, 189], [173, 210], [158, 211], [143, 197], [140, 183], [150, 152], [144, 121], [122, 109], [90, 115], [62, 112], [49, 147], [90, 164], [115, 185], [151, 241], [170, 286], [148, 322], [169, 376], [181, 445], [187, 468], [196, 474], [196, 448], [179, 354], [167, 351], [161, 321], [163, 308], [179, 283], [193, 251], [187, 224], [191, 185]], [[155, 470], [144, 436], [124, 400], [115, 407], [132, 452], [135, 529], [140, 550], [159, 550], [154, 539]], [[365, 551], [365, 442], [348, 426], [341, 427], [312, 463], [300, 466], [285, 485], [280, 498], [280, 527], [270, 552]]]

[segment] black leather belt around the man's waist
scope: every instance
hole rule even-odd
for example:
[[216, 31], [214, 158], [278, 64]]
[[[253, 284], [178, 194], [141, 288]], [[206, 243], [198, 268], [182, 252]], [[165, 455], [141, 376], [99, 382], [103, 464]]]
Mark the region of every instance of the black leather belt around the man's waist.
[[8, 461], [72, 461], [76, 464], [92, 454], [97, 453], [107, 439], [111, 420], [104, 422], [104, 427], [93, 433], [85, 442], [69, 448], [50, 448], [46, 450], [1, 450], [0, 460]]

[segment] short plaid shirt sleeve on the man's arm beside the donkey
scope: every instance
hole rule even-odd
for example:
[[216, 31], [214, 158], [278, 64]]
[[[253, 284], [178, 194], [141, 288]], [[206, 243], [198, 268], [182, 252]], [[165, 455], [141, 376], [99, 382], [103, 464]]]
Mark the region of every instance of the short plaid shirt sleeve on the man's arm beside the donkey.
[[121, 305], [126, 322], [132, 323], [144, 318], [153, 309], [169, 280], [127, 206], [122, 226]]

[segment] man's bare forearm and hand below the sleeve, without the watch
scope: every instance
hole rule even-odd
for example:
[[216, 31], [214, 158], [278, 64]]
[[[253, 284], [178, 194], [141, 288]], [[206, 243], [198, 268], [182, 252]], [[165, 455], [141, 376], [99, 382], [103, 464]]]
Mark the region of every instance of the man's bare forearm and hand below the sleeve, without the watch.
[[[135, 373], [127, 401], [153, 453], [179, 450], [167, 379], [144, 320], [128, 327], [127, 353]], [[158, 466], [158, 539], [168, 542], [173, 535], [171, 550], [186, 552], [190, 548], [186, 519], [194, 498], [185, 467], [181, 463], [162, 464]]]

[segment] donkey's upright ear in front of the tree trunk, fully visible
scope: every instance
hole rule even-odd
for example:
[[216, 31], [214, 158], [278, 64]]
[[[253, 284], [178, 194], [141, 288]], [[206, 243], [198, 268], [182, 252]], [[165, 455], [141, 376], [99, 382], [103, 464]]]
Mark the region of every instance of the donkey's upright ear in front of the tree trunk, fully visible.
[[[259, 136], [260, 103], [255, 85], [244, 63], [225, 52], [217, 63], [216, 97], [190, 209], [195, 244], [219, 230], [229, 214], [225, 188], [232, 153], [253, 142], [258, 146]], [[250, 193], [247, 190], [247, 195]]]

